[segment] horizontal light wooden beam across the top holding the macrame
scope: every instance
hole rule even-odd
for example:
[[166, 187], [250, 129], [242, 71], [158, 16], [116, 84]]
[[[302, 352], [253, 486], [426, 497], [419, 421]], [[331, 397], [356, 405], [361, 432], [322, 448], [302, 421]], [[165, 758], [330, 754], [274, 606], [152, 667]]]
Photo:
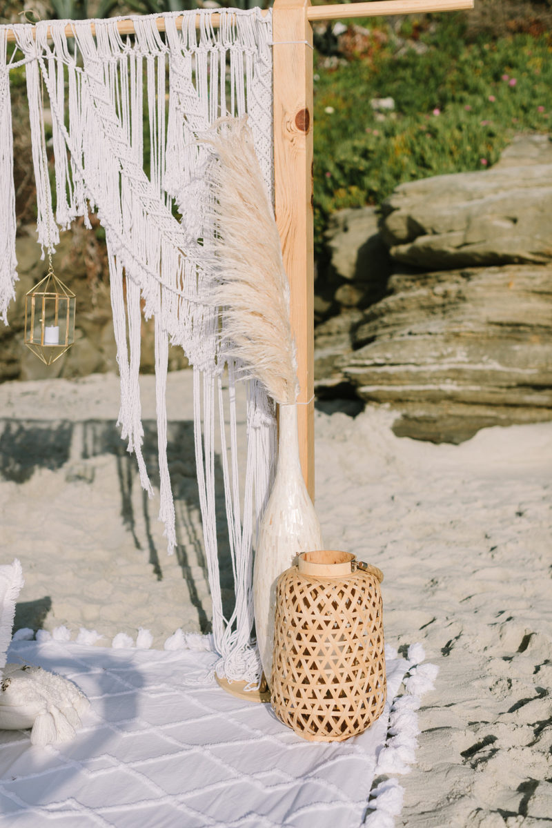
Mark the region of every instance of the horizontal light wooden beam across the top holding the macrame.
[[[345, 20], [347, 17], [382, 17], [395, 14], [421, 14], [422, 12], [454, 12], [473, 8], [473, 0], [376, 0], [376, 2], [348, 2], [335, 3], [331, 6], [310, 6], [307, 9], [307, 19], [310, 21], [320, 20]], [[263, 11], [262, 14], [266, 14]], [[182, 28], [183, 17], [175, 17], [177, 29]], [[211, 25], [215, 28], [220, 23], [220, 16], [215, 12], [210, 17]], [[195, 25], [199, 28], [199, 15]], [[165, 31], [165, 18], [156, 18], [158, 31]], [[96, 33], [94, 21], [90, 21], [92, 34]], [[134, 21], [132, 17], [128, 20], [120, 20], [117, 24], [120, 35], [134, 34]], [[65, 36], [73, 37], [73, 27], [65, 26]], [[50, 36], [50, 31], [48, 31]], [[8, 43], [16, 39], [14, 31], [7, 31]]]

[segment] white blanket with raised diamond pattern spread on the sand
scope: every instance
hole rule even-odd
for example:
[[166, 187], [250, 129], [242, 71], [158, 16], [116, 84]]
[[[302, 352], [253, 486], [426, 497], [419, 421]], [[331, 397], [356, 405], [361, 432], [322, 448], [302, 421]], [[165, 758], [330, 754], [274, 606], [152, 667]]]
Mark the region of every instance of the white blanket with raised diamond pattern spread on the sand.
[[388, 701], [371, 729], [317, 744], [281, 724], [270, 705], [224, 692], [215, 659], [13, 642], [9, 662], [68, 676], [91, 708], [70, 743], [33, 747], [28, 731], [0, 731], [0, 825], [354, 828], [367, 816], [370, 823], [378, 756], [392, 741], [393, 700], [411, 662], [388, 661]]

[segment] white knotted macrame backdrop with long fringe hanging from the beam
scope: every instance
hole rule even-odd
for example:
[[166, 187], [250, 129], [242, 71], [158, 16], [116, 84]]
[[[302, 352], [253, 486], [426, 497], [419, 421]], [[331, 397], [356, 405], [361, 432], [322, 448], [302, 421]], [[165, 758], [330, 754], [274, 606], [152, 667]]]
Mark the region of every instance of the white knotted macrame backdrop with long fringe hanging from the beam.
[[[94, 210], [105, 229], [113, 323], [121, 376], [118, 424], [137, 456], [142, 486], [150, 479], [142, 456], [138, 369], [141, 312], [155, 317], [160, 519], [174, 551], [175, 508], [166, 457], [166, 372], [169, 341], [194, 370], [194, 433], [204, 548], [213, 598], [217, 672], [257, 683], [251, 646], [252, 540], [266, 503], [275, 455], [275, 423], [262, 389], [247, 380], [247, 459], [240, 483], [236, 381], [239, 365], [221, 354], [218, 308], [209, 301], [213, 267], [212, 195], [204, 181], [213, 159], [198, 136], [218, 118], [247, 113], [267, 191], [272, 194], [271, 15], [218, 9], [132, 17], [135, 36], [117, 22], [41, 22], [12, 26], [17, 48], [0, 26], [0, 313], [14, 296], [15, 196], [9, 73], [26, 65], [36, 176], [37, 233], [42, 248], [59, 229]], [[199, 16], [199, 28], [196, 19]], [[181, 31], [175, 18], [183, 17]], [[127, 18], [126, 18], [127, 19]], [[68, 41], [65, 26], [74, 37]], [[51, 40], [47, 39], [50, 28]], [[34, 35], [34, 36], [33, 36]], [[43, 130], [43, 91], [50, 102], [55, 165], [52, 205]], [[175, 218], [175, 213], [181, 219]], [[228, 373], [228, 381], [223, 378]], [[224, 381], [223, 381], [224, 379]], [[225, 420], [229, 426], [225, 426]], [[214, 438], [220, 461], [233, 562], [236, 604], [223, 617], [215, 521]], [[243, 464], [241, 464], [243, 465]], [[243, 495], [240, 491], [242, 489]]]

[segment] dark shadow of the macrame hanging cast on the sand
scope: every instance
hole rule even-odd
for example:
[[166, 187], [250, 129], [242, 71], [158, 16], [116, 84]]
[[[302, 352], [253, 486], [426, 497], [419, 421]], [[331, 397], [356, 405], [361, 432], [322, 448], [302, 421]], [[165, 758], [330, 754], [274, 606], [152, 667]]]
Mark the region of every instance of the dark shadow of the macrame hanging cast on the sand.
[[[156, 422], [145, 420], [142, 451], [151, 484], [159, 486], [159, 464], [157, 455]], [[132, 535], [134, 546], [142, 550], [144, 542], [137, 533], [137, 517], [145, 527], [145, 544], [149, 562], [158, 580], [162, 580], [159, 549], [151, 532], [151, 523], [157, 515], [151, 514], [151, 505], [146, 492], [139, 498], [142, 514], [137, 516], [137, 498], [133, 497], [135, 487], [141, 488], [137, 461], [127, 452], [126, 442], [121, 440], [117, 426], [105, 420], [47, 421], [13, 420], [0, 418], [0, 476], [18, 484], [26, 483], [37, 469], [59, 471], [65, 469], [67, 482], [81, 480], [94, 482], [94, 465], [87, 460], [100, 455], [116, 458], [120, 493], [120, 514], [124, 526]], [[207, 561], [204, 556], [203, 532], [199, 511], [199, 492], [195, 474], [194, 423], [173, 421], [167, 424], [167, 455], [173, 496], [175, 498], [177, 559], [190, 590], [190, 599], [197, 610], [202, 631], [209, 631], [209, 619], [205, 614], [202, 599], [197, 589], [194, 569], [203, 573], [208, 582]], [[218, 560], [223, 613], [228, 618], [233, 609], [233, 569], [229, 551], [228, 527], [223, 495], [223, 472], [218, 455], [215, 455], [216, 517], [218, 532]], [[163, 546], [163, 553], [165, 546]], [[30, 602], [41, 604], [41, 608], [22, 608], [19, 612], [24, 626], [40, 628], [49, 607], [49, 598]], [[50, 602], [51, 603], [51, 602]], [[27, 612], [28, 609], [28, 612]], [[32, 616], [32, 619], [31, 619]], [[32, 621], [32, 623], [31, 623]]]

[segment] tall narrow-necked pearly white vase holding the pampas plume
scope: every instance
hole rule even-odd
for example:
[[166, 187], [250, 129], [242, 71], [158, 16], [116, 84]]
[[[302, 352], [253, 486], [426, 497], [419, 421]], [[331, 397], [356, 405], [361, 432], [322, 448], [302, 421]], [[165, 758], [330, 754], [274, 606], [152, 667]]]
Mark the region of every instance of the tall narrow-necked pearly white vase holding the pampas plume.
[[257, 646], [270, 681], [276, 583], [300, 552], [322, 549], [320, 524], [305, 486], [299, 458], [297, 406], [280, 406], [278, 464], [271, 497], [262, 517], [253, 570]]

